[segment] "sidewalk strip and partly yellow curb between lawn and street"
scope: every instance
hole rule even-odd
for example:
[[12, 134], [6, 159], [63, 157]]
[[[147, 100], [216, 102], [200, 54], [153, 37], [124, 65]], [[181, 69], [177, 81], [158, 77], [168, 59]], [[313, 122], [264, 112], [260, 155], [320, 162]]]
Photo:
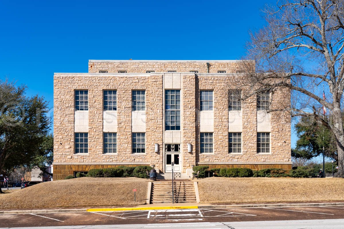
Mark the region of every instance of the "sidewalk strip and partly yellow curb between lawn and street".
[[9, 214], [44, 214], [44, 213], [82, 213], [87, 211], [125, 211], [125, 210], [155, 210], [155, 209], [224, 209], [224, 208], [259, 208], [259, 207], [314, 207], [314, 206], [344, 206], [344, 202], [280, 202], [280, 203], [228, 203], [228, 204], [145, 204], [135, 206], [99, 206], [77, 208], [41, 208], [41, 209], [0, 209], [0, 215]]

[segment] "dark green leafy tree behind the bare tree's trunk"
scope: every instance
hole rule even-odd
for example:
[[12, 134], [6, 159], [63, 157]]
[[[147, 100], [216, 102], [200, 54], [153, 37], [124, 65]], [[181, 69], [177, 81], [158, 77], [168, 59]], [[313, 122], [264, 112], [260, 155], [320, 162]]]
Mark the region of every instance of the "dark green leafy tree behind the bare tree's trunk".
[[311, 159], [323, 153], [335, 161], [338, 160], [335, 137], [329, 129], [316, 122], [312, 117], [302, 117], [295, 125], [298, 136], [296, 147], [291, 156], [295, 158]]

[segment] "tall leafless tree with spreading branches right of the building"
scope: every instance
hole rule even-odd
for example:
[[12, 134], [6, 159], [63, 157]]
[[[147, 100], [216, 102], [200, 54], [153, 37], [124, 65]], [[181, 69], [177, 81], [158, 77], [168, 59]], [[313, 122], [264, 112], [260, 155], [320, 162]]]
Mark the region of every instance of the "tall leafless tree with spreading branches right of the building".
[[251, 32], [247, 45], [256, 65], [246, 66], [243, 86], [249, 90], [244, 97], [290, 90], [291, 103], [271, 112], [284, 109], [291, 116], [313, 117], [332, 131], [338, 173], [344, 177], [344, 2], [286, 0], [263, 12], [266, 26]]

